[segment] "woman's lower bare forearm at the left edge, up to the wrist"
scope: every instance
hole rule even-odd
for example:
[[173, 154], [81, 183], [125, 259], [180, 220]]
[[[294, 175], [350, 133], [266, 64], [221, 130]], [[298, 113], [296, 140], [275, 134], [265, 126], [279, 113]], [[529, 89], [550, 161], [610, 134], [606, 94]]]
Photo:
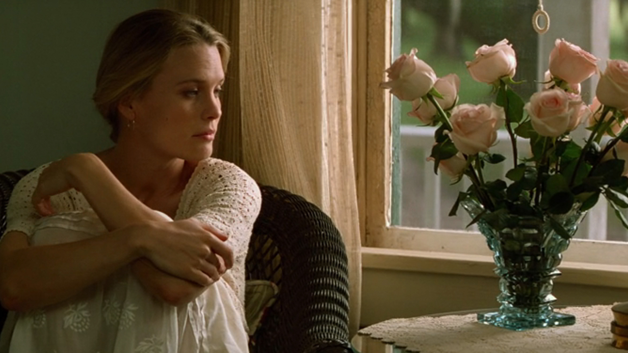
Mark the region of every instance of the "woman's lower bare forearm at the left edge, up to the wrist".
[[48, 246], [29, 246], [26, 234], [8, 232], [0, 241], [0, 301], [24, 311], [70, 298], [141, 256], [130, 232]]

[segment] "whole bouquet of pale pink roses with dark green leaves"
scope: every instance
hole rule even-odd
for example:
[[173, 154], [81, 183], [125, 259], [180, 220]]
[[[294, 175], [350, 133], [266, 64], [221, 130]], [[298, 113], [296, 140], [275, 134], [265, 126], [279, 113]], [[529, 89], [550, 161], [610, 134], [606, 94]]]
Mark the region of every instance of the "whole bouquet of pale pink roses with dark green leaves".
[[[430, 156], [435, 172], [440, 169], [455, 182], [470, 179], [450, 215], [460, 202], [472, 199], [484, 209], [472, 224], [483, 219], [499, 231], [508, 227], [509, 215], [544, 219], [585, 212], [604, 195], [628, 228], [620, 212], [628, 207], [628, 62], [608, 60], [603, 73], [597, 62], [579, 46], [556, 40], [543, 90], [524, 103], [511, 89], [517, 67], [512, 45], [507, 40], [483, 45], [466, 65], [474, 80], [492, 85], [495, 102], [457, 105], [457, 75], [438, 78], [413, 49], [387, 68], [389, 80], [381, 87], [412, 102], [408, 115], [437, 127]], [[580, 83], [595, 74], [600, 75], [596, 97], [587, 106]], [[570, 136], [582, 123], [588, 136]], [[490, 151], [501, 128], [509, 135], [512, 161]], [[518, 151], [518, 139], [528, 139], [529, 149]], [[505, 178], [485, 180], [485, 166], [496, 163], [511, 164]], [[560, 223], [551, 224], [561, 236], [570, 236]]]

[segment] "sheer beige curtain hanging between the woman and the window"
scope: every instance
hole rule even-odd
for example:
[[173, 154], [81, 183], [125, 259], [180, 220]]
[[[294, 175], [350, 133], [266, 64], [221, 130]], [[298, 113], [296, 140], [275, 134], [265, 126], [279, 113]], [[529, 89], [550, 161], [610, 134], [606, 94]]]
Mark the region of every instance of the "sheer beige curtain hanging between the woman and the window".
[[234, 47], [216, 154], [332, 217], [349, 255], [350, 334], [362, 285], [351, 134], [350, 0], [166, 0]]

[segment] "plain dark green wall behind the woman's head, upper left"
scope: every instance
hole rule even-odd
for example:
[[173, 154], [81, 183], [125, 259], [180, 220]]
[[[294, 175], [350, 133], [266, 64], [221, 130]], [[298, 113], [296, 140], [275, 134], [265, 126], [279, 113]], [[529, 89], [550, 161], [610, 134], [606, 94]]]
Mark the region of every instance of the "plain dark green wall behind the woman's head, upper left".
[[0, 172], [111, 146], [91, 96], [107, 35], [158, 0], [0, 1]]

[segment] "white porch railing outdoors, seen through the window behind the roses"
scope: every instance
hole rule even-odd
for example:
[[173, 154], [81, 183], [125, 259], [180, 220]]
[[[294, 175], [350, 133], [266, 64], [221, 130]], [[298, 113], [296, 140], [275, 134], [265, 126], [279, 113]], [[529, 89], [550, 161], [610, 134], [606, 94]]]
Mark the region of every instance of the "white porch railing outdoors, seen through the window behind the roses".
[[[450, 185], [448, 176], [434, 173], [434, 163], [427, 161], [434, 144], [435, 128], [421, 126], [401, 126], [401, 217], [404, 227], [430, 229], [465, 229], [470, 217], [460, 207], [455, 217], [449, 217], [449, 210], [458, 192], [470, 185], [467, 178]], [[485, 171], [486, 180], [504, 178], [506, 168], [511, 168], [512, 151], [506, 131], [499, 131], [498, 143], [491, 149], [507, 160], [499, 165], [491, 165]], [[522, 155], [529, 150], [528, 140], [519, 139], [517, 149]], [[575, 237], [580, 239], [628, 241], [628, 232], [616, 219], [614, 211], [608, 209], [604, 197], [589, 210]], [[467, 229], [477, 231], [477, 227]]]

